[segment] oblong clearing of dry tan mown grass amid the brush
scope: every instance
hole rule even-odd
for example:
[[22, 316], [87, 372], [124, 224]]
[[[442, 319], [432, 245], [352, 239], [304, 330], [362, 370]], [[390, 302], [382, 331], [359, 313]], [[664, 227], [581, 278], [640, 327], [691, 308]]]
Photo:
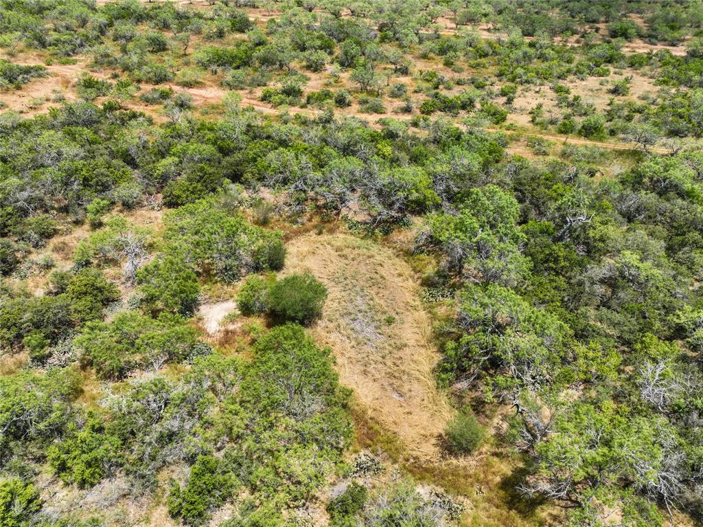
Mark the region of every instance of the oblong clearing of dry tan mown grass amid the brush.
[[439, 359], [410, 267], [388, 249], [345, 234], [287, 245], [287, 273], [310, 271], [330, 296], [312, 331], [337, 357], [344, 385], [420, 459], [437, 459], [452, 414], [432, 369]]

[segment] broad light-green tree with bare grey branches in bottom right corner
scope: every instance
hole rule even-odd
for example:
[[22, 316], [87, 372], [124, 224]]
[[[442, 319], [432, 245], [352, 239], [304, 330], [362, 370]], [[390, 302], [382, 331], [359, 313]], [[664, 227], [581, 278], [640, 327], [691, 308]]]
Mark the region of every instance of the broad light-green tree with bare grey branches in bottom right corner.
[[628, 418], [612, 401], [563, 409], [535, 451], [533, 474], [520, 490], [566, 504], [574, 520], [605, 521], [609, 504], [621, 502], [623, 521], [662, 525], [654, 502], [662, 500], [671, 511], [688, 477], [671, 426]]

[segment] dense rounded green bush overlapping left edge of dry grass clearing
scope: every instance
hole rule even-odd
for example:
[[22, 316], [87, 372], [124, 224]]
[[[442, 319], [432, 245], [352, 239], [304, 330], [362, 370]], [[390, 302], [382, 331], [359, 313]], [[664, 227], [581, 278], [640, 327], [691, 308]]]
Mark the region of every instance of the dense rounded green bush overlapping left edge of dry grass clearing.
[[283, 322], [309, 324], [322, 314], [327, 288], [312, 274], [291, 274], [271, 287], [271, 312]]

